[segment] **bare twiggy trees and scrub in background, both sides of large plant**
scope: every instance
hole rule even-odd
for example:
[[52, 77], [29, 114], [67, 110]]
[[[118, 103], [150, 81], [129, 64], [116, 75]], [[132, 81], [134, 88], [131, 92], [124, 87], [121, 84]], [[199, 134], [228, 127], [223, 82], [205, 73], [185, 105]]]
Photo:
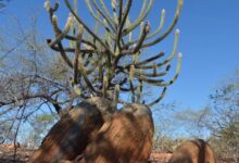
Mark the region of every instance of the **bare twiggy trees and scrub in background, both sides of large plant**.
[[[5, 4], [0, 1], [0, 8]], [[21, 141], [35, 148], [59, 120], [55, 101], [64, 105], [71, 98], [71, 70], [38, 33], [37, 15], [29, 17], [29, 26], [5, 17], [9, 24], [0, 25], [0, 143]], [[204, 138], [218, 156], [239, 158], [238, 76], [231, 70], [197, 111], [178, 110], [177, 101], [155, 106], [154, 150], [173, 151], [188, 138]]]

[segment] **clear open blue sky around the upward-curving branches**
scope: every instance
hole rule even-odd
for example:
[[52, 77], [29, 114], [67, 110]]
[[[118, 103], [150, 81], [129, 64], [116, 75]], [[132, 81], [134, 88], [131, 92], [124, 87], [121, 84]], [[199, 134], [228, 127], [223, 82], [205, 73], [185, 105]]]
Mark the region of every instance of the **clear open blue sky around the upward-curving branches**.
[[[85, 4], [84, 0], [79, 2]], [[167, 25], [174, 16], [177, 0], [155, 0], [154, 3], [148, 17], [152, 28], [154, 22], [159, 23], [162, 9], [166, 10]], [[60, 10], [60, 16], [65, 18], [67, 10]], [[23, 24], [38, 13], [40, 33], [46, 38], [52, 37], [43, 0], [13, 0], [3, 12], [16, 15]], [[88, 17], [85, 10], [80, 12], [84, 18]], [[133, 16], [136, 14], [137, 10], [134, 10]], [[1, 14], [1, 25], [5, 21]], [[180, 108], [200, 109], [219, 82], [239, 67], [239, 0], [185, 0], [177, 28], [181, 34], [178, 51], [184, 53], [183, 68], [162, 102], [176, 101]], [[158, 50], [169, 52], [172, 48], [173, 35]]]

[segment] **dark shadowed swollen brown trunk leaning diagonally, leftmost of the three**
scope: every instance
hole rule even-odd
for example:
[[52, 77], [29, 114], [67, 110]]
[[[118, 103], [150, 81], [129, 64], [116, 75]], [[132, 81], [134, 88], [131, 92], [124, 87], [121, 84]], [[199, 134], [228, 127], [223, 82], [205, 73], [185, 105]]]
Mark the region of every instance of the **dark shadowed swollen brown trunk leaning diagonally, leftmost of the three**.
[[30, 162], [58, 163], [60, 160], [75, 159], [103, 125], [102, 113], [106, 114], [109, 109], [112, 109], [110, 102], [101, 98], [81, 102], [51, 128], [30, 156]]

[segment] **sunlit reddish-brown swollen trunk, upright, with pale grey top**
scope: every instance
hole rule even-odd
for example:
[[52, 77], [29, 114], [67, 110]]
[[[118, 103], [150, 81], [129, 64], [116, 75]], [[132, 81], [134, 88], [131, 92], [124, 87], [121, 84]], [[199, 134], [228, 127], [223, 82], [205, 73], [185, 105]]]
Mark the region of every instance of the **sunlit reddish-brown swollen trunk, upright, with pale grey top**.
[[129, 104], [104, 123], [77, 162], [147, 162], [152, 148], [152, 137], [153, 122], [149, 108]]

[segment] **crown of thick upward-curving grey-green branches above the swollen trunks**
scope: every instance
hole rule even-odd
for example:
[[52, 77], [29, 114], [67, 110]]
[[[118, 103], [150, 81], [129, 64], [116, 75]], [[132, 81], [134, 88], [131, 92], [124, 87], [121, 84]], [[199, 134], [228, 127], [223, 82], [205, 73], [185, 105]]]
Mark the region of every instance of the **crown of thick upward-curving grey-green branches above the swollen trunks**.
[[[159, 98], [149, 102], [148, 105], [161, 101], [167, 87], [177, 79], [180, 72], [181, 53], [178, 53], [176, 73], [172, 79], [164, 79], [177, 53], [179, 30], [175, 32], [174, 46], [169, 55], [164, 58], [164, 52], [152, 55], [144, 51], [172, 33], [180, 15], [183, 0], [178, 0], [175, 17], [161, 35], [165, 22], [165, 10], [161, 11], [160, 23], [153, 32], [150, 32], [150, 24], [146, 20], [154, 0], [142, 1], [141, 11], [136, 21], [129, 18], [133, 0], [111, 0], [111, 7], [106, 0], [85, 0], [95, 20], [95, 28], [90, 28], [87, 22], [78, 16], [77, 8], [75, 7], [74, 10], [70, 0], [64, 2], [71, 15], [63, 29], [60, 29], [55, 16], [59, 3], [55, 3], [54, 8], [50, 7], [49, 1], [45, 4], [55, 34], [54, 39], [48, 39], [48, 45], [60, 52], [65, 63], [73, 68], [73, 90], [76, 98], [102, 96], [112, 99], [116, 106], [117, 103], [128, 103], [120, 100], [122, 91], [130, 93], [130, 102], [144, 103], [143, 85], [149, 84], [160, 87], [161, 91]], [[109, 7], [113, 12], [110, 12]], [[68, 34], [71, 28], [74, 28], [74, 33]], [[75, 32], [78, 32], [77, 36]], [[133, 34], [137, 33], [138, 37], [134, 39]], [[70, 58], [68, 53], [74, 54], [74, 58]], [[148, 55], [142, 57], [144, 53]]]

